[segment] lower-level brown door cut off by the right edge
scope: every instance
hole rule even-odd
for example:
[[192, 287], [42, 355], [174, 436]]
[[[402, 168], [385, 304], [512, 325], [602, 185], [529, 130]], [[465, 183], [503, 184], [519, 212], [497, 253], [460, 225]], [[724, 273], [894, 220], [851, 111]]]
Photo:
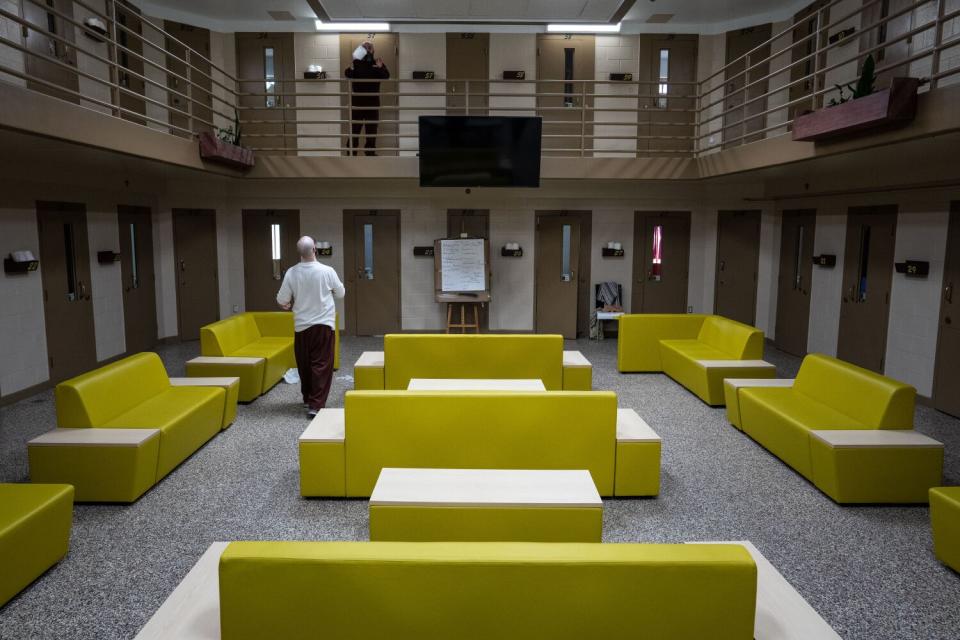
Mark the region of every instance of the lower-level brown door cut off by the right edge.
[[940, 336], [933, 375], [933, 406], [953, 416], [960, 416], [960, 366], [957, 366], [960, 362], [960, 298], [954, 297], [957, 285], [960, 285], [960, 202], [954, 202], [950, 211]]

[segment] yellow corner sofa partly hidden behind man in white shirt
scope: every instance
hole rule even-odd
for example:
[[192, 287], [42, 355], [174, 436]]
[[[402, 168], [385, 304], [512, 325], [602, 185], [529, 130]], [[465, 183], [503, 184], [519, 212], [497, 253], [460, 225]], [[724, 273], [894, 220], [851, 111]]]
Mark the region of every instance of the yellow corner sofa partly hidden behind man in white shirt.
[[[238, 313], [200, 328], [200, 358], [187, 362], [189, 377], [240, 378], [241, 402], [252, 402], [297, 366], [293, 313]], [[340, 331], [334, 331], [333, 367], [340, 367]]]

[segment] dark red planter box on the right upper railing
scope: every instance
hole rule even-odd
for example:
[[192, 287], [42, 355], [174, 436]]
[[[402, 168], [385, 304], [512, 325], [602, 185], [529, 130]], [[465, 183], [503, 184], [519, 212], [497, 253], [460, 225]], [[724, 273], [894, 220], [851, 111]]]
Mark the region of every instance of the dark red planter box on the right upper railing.
[[894, 78], [889, 89], [799, 116], [793, 139], [829, 140], [877, 127], [902, 125], [917, 113], [917, 78]]

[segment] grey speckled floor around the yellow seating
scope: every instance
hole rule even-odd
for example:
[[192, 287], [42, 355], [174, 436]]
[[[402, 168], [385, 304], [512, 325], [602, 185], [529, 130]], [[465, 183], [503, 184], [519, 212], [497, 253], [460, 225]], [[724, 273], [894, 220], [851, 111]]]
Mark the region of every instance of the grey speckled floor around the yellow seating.
[[[378, 339], [344, 339], [329, 406]], [[604, 540], [750, 540], [846, 640], [960, 639], [960, 575], [931, 549], [925, 507], [840, 507], [662, 375], [617, 373], [616, 342], [581, 340], [594, 386], [613, 389], [663, 437], [656, 499], [604, 502]], [[165, 347], [171, 375], [196, 343]], [[799, 361], [768, 349], [781, 377]], [[27, 480], [26, 442], [55, 424], [52, 393], [0, 408], [0, 481]], [[215, 540], [363, 540], [363, 500], [304, 500], [297, 389], [281, 383], [136, 504], [77, 505], [70, 553], [0, 609], [0, 639], [132, 638]], [[960, 484], [960, 421], [917, 408]], [[2, 570], [2, 568], [0, 568]]]

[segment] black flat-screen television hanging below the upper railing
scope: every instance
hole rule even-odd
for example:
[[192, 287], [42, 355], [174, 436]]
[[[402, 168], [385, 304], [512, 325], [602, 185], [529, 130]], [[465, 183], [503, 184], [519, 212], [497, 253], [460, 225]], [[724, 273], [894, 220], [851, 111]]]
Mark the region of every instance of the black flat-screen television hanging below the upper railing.
[[540, 118], [420, 116], [421, 187], [539, 187]]

